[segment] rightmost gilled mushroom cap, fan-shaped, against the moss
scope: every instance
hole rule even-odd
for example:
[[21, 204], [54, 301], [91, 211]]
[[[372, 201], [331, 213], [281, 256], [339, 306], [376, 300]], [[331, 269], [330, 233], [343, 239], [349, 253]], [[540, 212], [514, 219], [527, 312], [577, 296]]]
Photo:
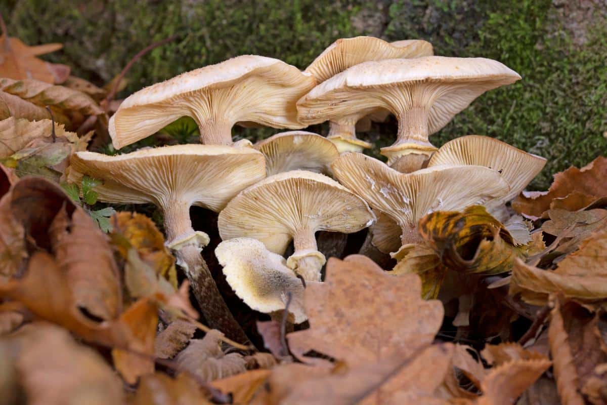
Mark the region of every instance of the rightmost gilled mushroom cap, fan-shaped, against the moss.
[[500, 199], [507, 202], [538, 175], [546, 159], [495, 138], [467, 135], [450, 140], [432, 155], [428, 167], [441, 165], [476, 165], [497, 170], [510, 186], [510, 192]]

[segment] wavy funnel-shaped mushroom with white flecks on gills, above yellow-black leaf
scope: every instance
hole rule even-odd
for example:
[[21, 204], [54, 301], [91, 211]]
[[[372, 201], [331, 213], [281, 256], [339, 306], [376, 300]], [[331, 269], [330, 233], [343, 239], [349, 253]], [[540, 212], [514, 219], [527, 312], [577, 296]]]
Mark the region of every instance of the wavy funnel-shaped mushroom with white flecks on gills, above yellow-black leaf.
[[398, 223], [401, 249], [422, 242], [417, 231], [422, 216], [483, 204], [510, 190], [498, 171], [483, 166], [433, 166], [405, 174], [375, 158], [346, 153], [331, 167], [339, 182]]

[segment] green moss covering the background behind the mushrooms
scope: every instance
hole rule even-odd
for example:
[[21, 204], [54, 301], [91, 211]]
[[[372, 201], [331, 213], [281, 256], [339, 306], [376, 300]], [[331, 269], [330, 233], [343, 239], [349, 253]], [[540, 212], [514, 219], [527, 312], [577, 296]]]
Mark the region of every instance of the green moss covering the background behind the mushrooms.
[[[596, 18], [595, 26], [588, 27], [588, 41], [580, 47], [561, 27], [551, 0], [383, 4], [389, 5], [383, 9], [387, 15], [377, 2], [314, 0], [147, 0], [136, 7], [131, 0], [10, 0], [0, 10], [12, 35], [30, 44], [64, 43], [64, 49], [49, 55], [49, 60], [70, 64], [76, 75], [97, 84], [114, 77], [143, 47], [177, 35], [135, 64], [124, 95], [244, 53], [305, 67], [334, 39], [361, 34], [360, 27], [383, 32], [390, 40], [423, 38], [433, 43], [438, 55], [497, 59], [523, 77], [512, 86], [488, 92], [456, 115], [433, 135], [437, 146], [461, 135], [483, 134], [543, 155], [548, 165], [532, 183], [540, 189], [549, 186], [554, 172], [607, 154], [605, 18]], [[374, 24], [379, 27], [353, 24], [357, 15], [377, 16]], [[392, 142], [394, 121], [375, 129], [363, 137], [376, 141], [378, 147]], [[326, 131], [325, 126], [312, 130]], [[236, 137], [253, 140], [274, 132], [235, 129]], [[175, 141], [192, 136], [185, 135], [175, 136]], [[137, 146], [165, 141], [160, 135]]]

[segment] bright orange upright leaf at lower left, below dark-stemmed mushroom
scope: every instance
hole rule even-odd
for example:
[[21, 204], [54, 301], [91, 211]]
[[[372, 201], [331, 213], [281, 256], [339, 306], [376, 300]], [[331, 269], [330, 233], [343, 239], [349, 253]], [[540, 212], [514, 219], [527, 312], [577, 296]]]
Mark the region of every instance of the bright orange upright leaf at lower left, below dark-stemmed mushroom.
[[[154, 372], [158, 307], [151, 299], [140, 299], [124, 311], [120, 316], [120, 324], [129, 332], [126, 347], [129, 350], [112, 350], [114, 366], [124, 381], [135, 384], [140, 376]], [[144, 356], [138, 353], [143, 353]]]

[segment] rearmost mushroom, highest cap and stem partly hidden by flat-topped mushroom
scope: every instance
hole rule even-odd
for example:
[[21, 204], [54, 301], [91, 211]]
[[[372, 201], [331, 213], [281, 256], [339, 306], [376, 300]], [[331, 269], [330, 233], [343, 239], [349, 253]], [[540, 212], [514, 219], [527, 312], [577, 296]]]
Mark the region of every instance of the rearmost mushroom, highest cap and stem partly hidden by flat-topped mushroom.
[[[432, 52], [432, 44], [419, 39], [387, 43], [373, 36], [342, 38], [328, 46], [305, 72], [314, 75], [317, 83], [322, 83], [359, 63], [395, 58], [418, 58], [432, 55]], [[339, 117], [331, 117], [327, 137], [335, 143], [340, 152], [361, 152], [362, 149], [371, 148], [370, 143], [356, 138], [356, 122], [368, 114], [378, 112], [383, 113], [381, 108], [371, 107], [350, 113], [344, 112]], [[322, 121], [327, 120], [316, 121], [316, 123]]]

